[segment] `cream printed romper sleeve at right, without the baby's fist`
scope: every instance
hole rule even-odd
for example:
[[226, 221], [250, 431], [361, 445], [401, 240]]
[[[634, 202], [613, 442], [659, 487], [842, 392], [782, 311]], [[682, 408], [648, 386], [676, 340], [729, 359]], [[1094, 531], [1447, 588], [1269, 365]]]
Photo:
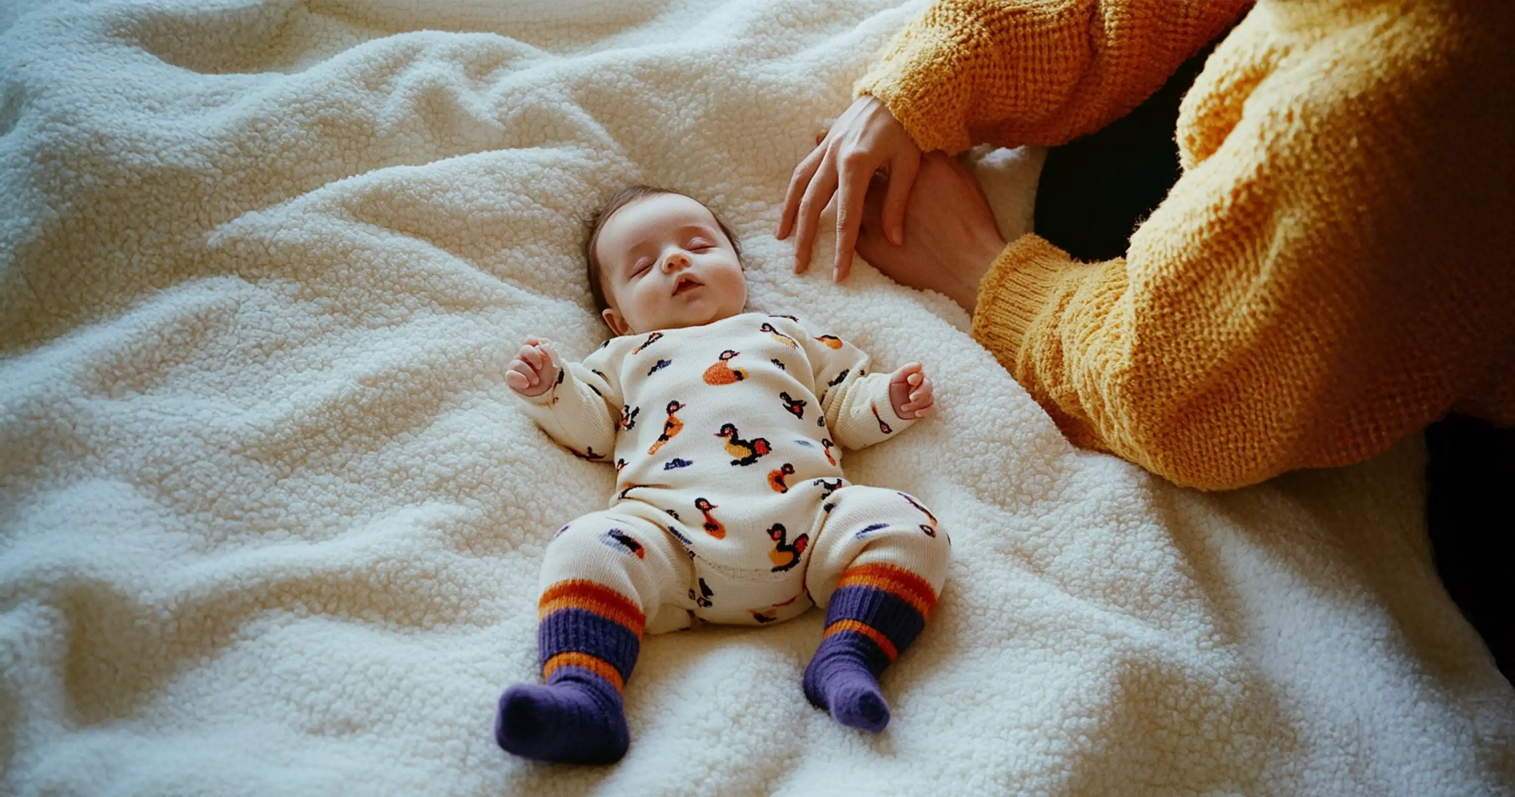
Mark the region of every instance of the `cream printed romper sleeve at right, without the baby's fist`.
[[818, 335], [809, 327], [806, 332], [803, 345], [815, 376], [815, 392], [838, 444], [865, 449], [915, 423], [894, 414], [889, 374], [868, 373], [870, 359], [862, 348], [835, 335]]

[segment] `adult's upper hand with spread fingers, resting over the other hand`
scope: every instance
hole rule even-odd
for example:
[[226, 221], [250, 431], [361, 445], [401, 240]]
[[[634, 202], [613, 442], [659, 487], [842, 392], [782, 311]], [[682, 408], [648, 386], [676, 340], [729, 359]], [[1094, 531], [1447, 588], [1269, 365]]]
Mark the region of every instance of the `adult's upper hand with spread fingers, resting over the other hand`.
[[895, 244], [904, 242], [904, 206], [921, 164], [921, 148], [888, 106], [874, 97], [859, 97], [832, 124], [811, 155], [789, 177], [779, 220], [779, 239], [794, 236], [794, 271], [811, 267], [815, 227], [832, 195], [836, 195], [836, 267], [841, 282], [851, 271], [853, 247], [862, 223], [864, 197], [874, 173], [888, 173], [883, 197], [883, 229]]

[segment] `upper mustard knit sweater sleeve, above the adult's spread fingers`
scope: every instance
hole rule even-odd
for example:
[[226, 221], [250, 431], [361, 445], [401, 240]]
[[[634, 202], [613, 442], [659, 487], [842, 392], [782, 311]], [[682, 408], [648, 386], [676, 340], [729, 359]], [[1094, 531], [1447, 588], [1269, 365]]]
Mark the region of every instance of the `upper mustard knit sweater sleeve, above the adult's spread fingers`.
[[1251, 0], [936, 0], [856, 83], [923, 150], [1056, 145], [1120, 118]]

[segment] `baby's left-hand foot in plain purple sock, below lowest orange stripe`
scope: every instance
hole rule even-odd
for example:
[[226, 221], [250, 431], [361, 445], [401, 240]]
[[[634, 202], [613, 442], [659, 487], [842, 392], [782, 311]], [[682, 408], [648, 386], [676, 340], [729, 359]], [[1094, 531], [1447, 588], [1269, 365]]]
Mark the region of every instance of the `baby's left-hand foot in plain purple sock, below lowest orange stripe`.
[[621, 692], [592, 676], [511, 686], [494, 738], [509, 753], [559, 764], [614, 764], [630, 744]]

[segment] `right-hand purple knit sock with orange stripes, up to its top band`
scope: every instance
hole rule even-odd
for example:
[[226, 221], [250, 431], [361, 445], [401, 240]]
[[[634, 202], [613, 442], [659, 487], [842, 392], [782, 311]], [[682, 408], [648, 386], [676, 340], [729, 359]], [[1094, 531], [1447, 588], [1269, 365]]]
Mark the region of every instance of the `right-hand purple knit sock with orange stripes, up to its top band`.
[[901, 567], [847, 568], [826, 606], [826, 638], [804, 668], [804, 697], [844, 726], [883, 730], [889, 703], [879, 673], [915, 641], [935, 603], [932, 585]]

